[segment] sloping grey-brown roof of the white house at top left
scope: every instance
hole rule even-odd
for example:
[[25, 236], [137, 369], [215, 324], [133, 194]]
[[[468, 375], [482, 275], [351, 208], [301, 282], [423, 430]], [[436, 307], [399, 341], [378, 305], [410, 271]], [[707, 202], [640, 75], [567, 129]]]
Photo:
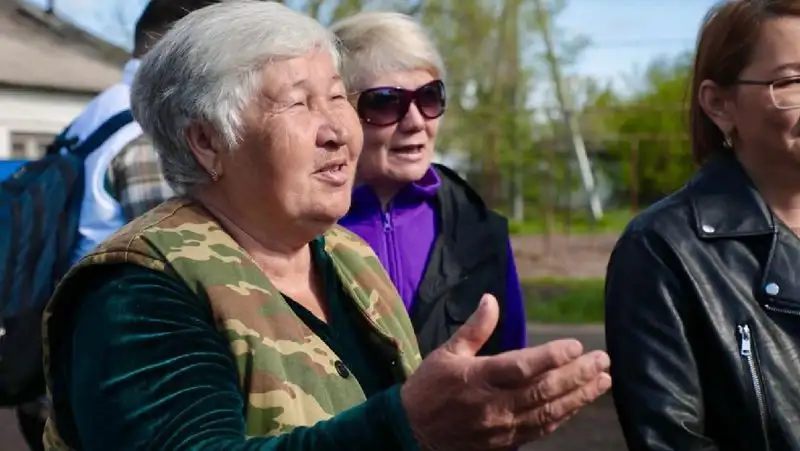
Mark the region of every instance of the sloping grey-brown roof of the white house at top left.
[[98, 93], [119, 81], [128, 58], [51, 13], [0, 0], [0, 86]]

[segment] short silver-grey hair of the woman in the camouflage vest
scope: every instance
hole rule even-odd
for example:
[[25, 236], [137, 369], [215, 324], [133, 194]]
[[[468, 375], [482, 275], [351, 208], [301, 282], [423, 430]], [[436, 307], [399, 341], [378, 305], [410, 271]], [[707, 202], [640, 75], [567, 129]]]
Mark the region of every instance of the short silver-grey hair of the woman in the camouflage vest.
[[131, 88], [133, 116], [153, 139], [170, 186], [186, 193], [210, 180], [186, 140], [190, 124], [211, 125], [233, 151], [264, 66], [315, 50], [339, 67], [333, 33], [277, 2], [233, 0], [176, 22], [142, 59]]

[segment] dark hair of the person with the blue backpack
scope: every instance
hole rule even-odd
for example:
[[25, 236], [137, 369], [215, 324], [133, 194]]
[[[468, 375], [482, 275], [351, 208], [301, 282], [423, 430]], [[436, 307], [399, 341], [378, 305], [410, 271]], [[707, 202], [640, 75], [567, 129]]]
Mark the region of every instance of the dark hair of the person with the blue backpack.
[[192, 11], [221, 0], [150, 0], [144, 8], [134, 31], [134, 54], [144, 53], [175, 22]]

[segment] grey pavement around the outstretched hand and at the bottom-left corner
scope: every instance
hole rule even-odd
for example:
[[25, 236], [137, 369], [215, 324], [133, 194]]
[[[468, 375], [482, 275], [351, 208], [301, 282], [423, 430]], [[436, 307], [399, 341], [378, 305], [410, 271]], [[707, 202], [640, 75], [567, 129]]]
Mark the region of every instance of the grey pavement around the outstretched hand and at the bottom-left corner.
[[[531, 325], [529, 343], [542, 344], [565, 337], [578, 338], [586, 349], [603, 349], [602, 326]], [[601, 399], [584, 409], [552, 436], [523, 448], [524, 451], [624, 451], [625, 445], [610, 399]], [[16, 418], [0, 409], [0, 451], [26, 451], [17, 433]]]

